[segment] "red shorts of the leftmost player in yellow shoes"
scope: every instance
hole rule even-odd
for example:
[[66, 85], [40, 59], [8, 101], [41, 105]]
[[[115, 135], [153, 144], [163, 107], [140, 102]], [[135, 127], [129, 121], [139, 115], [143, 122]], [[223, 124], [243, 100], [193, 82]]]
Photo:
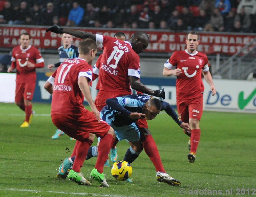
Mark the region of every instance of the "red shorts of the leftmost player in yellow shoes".
[[21, 102], [23, 100], [32, 100], [36, 86], [36, 81], [30, 81], [28, 83], [16, 82], [15, 90], [15, 102]]

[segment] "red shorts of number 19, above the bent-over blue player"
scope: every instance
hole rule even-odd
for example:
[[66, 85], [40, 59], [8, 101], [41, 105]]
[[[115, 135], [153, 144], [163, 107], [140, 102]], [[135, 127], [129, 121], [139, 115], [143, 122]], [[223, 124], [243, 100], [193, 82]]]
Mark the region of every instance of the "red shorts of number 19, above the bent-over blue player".
[[122, 97], [128, 94], [132, 94], [131, 92], [107, 92], [107, 91], [99, 91], [96, 98], [94, 105], [96, 106], [97, 110], [100, 112], [104, 106], [106, 106], [106, 100], [115, 97]]

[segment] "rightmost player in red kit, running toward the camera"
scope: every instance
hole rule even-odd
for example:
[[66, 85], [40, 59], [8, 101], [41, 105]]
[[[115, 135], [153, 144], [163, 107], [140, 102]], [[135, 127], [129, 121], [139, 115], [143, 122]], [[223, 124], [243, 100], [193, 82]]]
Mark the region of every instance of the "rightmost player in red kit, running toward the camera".
[[[163, 75], [177, 76], [176, 81], [176, 101], [177, 110], [182, 122], [189, 123], [191, 133], [184, 130], [189, 139], [188, 160], [194, 163], [196, 150], [200, 139], [199, 121], [203, 112], [203, 92], [204, 84], [201, 74], [203, 70], [204, 79], [210, 85], [212, 95], [216, 94], [216, 89], [212, 82], [212, 75], [209, 72], [207, 56], [196, 51], [199, 44], [199, 35], [191, 31], [186, 37], [187, 48], [184, 51], [176, 51], [164, 64]], [[173, 67], [176, 66], [176, 69]]]

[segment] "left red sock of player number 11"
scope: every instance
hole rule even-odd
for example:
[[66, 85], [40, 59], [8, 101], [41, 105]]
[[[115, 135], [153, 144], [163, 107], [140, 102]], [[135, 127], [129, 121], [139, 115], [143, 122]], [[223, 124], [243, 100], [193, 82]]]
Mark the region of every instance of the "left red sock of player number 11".
[[92, 145], [92, 140], [87, 139], [84, 143], [80, 142], [76, 148], [76, 157], [72, 169], [75, 172], [80, 172], [80, 168], [83, 166], [87, 151]]

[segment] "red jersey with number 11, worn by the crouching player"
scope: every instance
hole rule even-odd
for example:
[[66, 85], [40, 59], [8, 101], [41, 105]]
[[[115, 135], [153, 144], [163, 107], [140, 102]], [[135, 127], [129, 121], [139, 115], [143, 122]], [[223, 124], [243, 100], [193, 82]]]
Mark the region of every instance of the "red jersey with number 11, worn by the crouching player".
[[84, 59], [74, 58], [63, 62], [48, 79], [53, 84], [51, 115], [80, 114], [85, 110], [84, 95], [78, 86], [81, 76], [91, 81], [92, 66]]

